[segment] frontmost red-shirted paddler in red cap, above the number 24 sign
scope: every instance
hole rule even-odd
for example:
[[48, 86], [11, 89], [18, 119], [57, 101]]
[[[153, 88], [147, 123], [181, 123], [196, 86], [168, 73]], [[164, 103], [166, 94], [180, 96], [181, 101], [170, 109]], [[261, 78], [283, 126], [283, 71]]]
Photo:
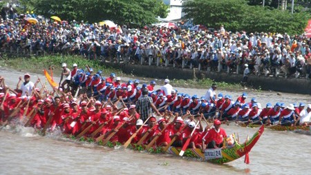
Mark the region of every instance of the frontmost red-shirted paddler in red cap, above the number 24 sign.
[[218, 119], [214, 120], [214, 127], [209, 130], [207, 136], [202, 139], [204, 149], [216, 149], [223, 147], [223, 139], [227, 137], [227, 133], [223, 127], [220, 127], [220, 125], [221, 121]]

